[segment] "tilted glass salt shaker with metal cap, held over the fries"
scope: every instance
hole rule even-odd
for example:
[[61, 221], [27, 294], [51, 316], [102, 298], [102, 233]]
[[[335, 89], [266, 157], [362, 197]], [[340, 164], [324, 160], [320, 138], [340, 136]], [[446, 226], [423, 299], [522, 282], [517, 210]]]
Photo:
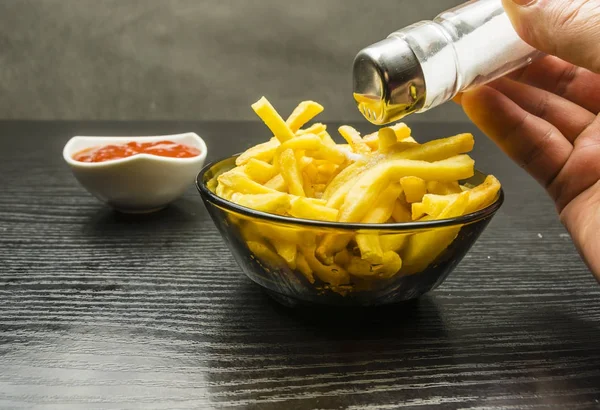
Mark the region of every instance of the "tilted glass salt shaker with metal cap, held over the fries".
[[354, 60], [354, 98], [373, 124], [422, 113], [540, 57], [501, 0], [472, 0], [390, 34]]

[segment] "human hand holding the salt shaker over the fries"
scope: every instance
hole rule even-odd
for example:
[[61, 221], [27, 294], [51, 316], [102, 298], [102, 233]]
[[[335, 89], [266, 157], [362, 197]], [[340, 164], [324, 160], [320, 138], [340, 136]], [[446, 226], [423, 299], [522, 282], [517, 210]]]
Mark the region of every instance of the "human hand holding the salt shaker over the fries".
[[549, 54], [455, 99], [542, 184], [600, 280], [600, 0], [503, 0], [519, 36]]

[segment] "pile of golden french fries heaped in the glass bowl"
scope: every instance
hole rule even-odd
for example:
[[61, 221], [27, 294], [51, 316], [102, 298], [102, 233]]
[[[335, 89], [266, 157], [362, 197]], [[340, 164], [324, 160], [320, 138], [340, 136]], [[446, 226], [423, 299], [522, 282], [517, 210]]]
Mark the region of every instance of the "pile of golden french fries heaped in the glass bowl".
[[[272, 133], [218, 176], [220, 197], [254, 210], [342, 223], [403, 223], [454, 218], [490, 205], [500, 182], [488, 176], [472, 187], [471, 134], [418, 143], [404, 123], [361, 136], [350, 126], [334, 141], [321, 123], [323, 111], [300, 103], [283, 120], [262, 97], [252, 105]], [[456, 238], [460, 226], [386, 233], [324, 230], [237, 219], [254, 257], [271, 269], [301, 272], [331, 289], [357, 281], [385, 280], [423, 271]]]

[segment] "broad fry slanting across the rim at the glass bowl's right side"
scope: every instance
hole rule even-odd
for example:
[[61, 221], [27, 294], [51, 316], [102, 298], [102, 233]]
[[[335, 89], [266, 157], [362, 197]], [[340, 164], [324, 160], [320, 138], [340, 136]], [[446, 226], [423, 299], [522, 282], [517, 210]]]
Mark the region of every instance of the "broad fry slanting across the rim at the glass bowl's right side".
[[[465, 191], [458, 194], [436, 219], [463, 215], [468, 204], [469, 192]], [[437, 228], [411, 236], [403, 252], [403, 273], [418, 273], [429, 266], [452, 243], [460, 228]]]

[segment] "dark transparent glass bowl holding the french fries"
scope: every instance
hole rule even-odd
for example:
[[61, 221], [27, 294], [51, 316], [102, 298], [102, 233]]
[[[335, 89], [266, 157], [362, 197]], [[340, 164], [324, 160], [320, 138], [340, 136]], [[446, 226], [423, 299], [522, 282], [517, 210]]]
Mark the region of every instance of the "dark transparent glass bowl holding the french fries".
[[[446, 279], [504, 201], [504, 192], [500, 189], [494, 202], [482, 210], [434, 221], [351, 224], [291, 218], [255, 211], [215, 194], [216, 178], [232, 169], [236, 158], [232, 156], [206, 165], [196, 178], [196, 186], [242, 271], [287, 306], [368, 307], [416, 299]], [[485, 177], [475, 171], [473, 177], [461, 183], [476, 186]], [[397, 261], [392, 261], [376, 273], [356, 269], [348, 273], [350, 268], [344, 268], [344, 263], [352, 257], [350, 251], [339, 254], [339, 260], [336, 256], [333, 263], [327, 264], [315, 256], [315, 244], [325, 236], [344, 238], [342, 241], [348, 243], [347, 249], [351, 250], [356, 235], [376, 235], [380, 241], [397, 243], [402, 249], [416, 244], [421, 252], [411, 252], [409, 259], [405, 259], [399, 250], [400, 269], [396, 269]], [[296, 252], [294, 246], [290, 249], [285, 244], [296, 245]], [[285, 253], [288, 251], [291, 254]]]

